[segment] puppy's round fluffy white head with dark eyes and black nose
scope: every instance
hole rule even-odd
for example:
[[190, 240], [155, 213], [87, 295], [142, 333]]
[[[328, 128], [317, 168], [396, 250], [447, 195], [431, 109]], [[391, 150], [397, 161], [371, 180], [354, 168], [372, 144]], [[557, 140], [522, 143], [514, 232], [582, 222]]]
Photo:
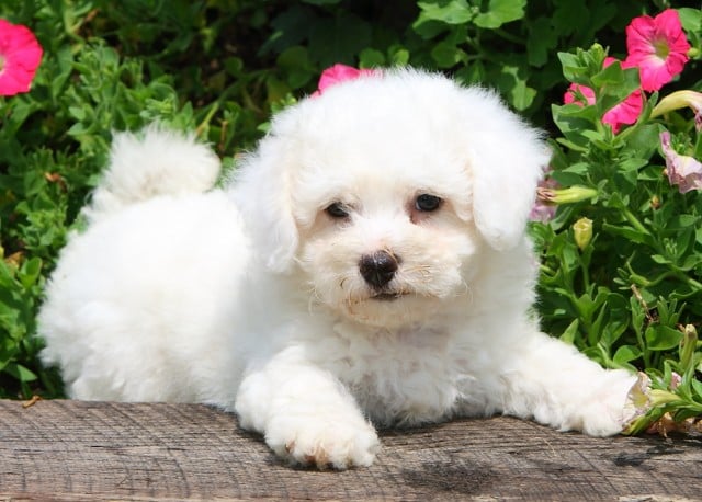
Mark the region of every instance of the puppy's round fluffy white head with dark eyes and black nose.
[[396, 70], [278, 115], [235, 191], [268, 266], [360, 322], [421, 319], [523, 239], [548, 161], [491, 92]]

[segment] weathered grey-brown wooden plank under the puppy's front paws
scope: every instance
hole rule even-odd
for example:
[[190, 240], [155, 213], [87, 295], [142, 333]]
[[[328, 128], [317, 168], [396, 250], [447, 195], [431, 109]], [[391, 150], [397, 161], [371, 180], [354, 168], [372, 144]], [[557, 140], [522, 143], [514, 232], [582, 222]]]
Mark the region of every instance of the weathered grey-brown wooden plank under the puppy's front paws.
[[0, 500], [700, 500], [702, 438], [591, 438], [509, 418], [382, 434], [371, 468], [279, 461], [197, 404], [0, 400]]

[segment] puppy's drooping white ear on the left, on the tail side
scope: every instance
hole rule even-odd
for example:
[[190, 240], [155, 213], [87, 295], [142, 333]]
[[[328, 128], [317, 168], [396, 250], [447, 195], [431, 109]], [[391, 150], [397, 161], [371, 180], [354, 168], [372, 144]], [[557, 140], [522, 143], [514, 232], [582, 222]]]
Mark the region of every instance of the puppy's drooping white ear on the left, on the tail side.
[[254, 152], [245, 156], [231, 185], [257, 252], [265, 253], [261, 260], [279, 273], [292, 269], [298, 244], [283, 144], [274, 136], [263, 138]]

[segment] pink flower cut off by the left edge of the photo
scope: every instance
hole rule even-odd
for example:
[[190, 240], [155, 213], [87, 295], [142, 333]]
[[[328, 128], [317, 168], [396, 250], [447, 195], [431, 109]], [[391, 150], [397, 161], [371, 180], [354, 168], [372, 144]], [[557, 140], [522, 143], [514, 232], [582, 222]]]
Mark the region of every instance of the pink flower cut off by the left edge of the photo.
[[21, 24], [0, 19], [0, 95], [27, 92], [42, 60], [42, 46]]

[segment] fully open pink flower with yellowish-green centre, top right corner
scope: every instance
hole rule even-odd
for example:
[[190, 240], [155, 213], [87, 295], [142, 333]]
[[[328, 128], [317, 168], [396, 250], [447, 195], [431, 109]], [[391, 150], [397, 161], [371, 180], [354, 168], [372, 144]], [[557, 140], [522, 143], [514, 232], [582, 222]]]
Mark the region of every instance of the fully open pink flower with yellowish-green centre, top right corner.
[[680, 15], [667, 9], [655, 18], [642, 15], [626, 26], [627, 67], [638, 67], [641, 87], [657, 91], [682, 71], [688, 62], [690, 44]]

